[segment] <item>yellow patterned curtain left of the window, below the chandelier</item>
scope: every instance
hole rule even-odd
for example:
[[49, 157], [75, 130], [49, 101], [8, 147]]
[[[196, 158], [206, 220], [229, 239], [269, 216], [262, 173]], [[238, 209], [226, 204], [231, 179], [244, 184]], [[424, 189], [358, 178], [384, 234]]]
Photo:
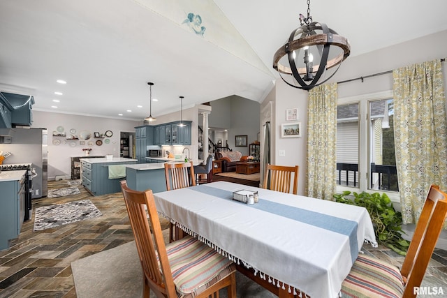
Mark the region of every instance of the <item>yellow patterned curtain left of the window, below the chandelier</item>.
[[337, 83], [309, 91], [307, 114], [307, 196], [333, 200], [337, 187]]

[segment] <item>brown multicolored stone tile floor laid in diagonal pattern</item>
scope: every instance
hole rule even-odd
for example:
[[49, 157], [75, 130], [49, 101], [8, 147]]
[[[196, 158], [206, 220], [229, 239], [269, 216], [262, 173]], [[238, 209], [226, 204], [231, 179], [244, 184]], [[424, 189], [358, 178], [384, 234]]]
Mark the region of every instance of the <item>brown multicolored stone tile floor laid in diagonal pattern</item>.
[[[50, 189], [63, 187], [66, 180], [49, 181]], [[33, 208], [89, 199], [103, 216], [38, 232], [33, 232], [32, 219], [24, 223], [12, 246], [0, 251], [0, 298], [76, 297], [71, 262], [133, 241], [121, 193], [94, 197], [82, 186], [79, 189], [79, 195], [34, 200]], [[365, 253], [397, 266], [403, 262], [402, 256], [383, 246], [364, 247]], [[441, 286], [447, 295], [447, 251], [434, 251], [423, 285]], [[256, 297], [256, 293], [238, 292], [237, 297]]]

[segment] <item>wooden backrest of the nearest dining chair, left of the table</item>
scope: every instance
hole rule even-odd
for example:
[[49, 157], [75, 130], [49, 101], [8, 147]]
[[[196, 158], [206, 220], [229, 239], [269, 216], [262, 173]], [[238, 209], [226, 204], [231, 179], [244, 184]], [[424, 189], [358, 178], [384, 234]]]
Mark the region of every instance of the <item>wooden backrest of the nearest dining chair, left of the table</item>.
[[[155, 293], [177, 297], [152, 191], [133, 191], [127, 187], [126, 180], [121, 181], [121, 189], [145, 281]], [[147, 215], [149, 215], [149, 221]], [[152, 227], [153, 238], [150, 227]]]

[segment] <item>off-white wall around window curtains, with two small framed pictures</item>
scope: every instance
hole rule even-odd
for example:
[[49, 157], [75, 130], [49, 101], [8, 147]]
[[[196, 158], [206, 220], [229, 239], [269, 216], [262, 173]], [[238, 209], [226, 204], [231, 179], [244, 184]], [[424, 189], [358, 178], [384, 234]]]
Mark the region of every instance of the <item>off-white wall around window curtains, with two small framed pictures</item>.
[[[447, 30], [382, 50], [369, 52], [356, 57], [348, 57], [339, 68], [337, 74], [329, 82], [349, 80], [393, 70], [393, 68], [409, 66], [433, 59], [446, 58], [446, 48]], [[355, 51], [355, 49], [352, 50]], [[444, 62], [442, 66], [444, 89], [446, 89], [446, 63]], [[304, 195], [307, 170], [307, 92], [289, 87], [280, 78], [276, 81], [275, 89], [274, 117], [276, 119], [272, 121], [272, 130], [274, 129], [277, 135], [272, 137], [272, 149], [274, 149], [272, 163], [278, 165], [300, 165], [298, 193]], [[357, 80], [339, 84], [338, 90], [339, 98], [361, 96], [379, 91], [390, 91], [393, 90], [393, 75], [380, 75], [367, 78], [364, 82]], [[302, 131], [303, 136], [300, 138], [281, 139], [279, 134], [280, 124], [286, 122], [286, 109], [293, 107], [298, 107], [298, 117], [304, 128]], [[279, 150], [285, 150], [286, 156], [279, 156]]]

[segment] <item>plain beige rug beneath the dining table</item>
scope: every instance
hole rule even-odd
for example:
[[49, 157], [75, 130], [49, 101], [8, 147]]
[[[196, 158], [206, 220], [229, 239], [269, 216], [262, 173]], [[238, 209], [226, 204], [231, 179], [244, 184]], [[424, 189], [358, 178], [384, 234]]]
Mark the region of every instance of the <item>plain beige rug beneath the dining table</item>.
[[[168, 229], [163, 230], [165, 231], [169, 232]], [[78, 298], [142, 297], [142, 269], [139, 260], [135, 241], [75, 260], [71, 263], [71, 271], [76, 296]], [[237, 297], [277, 297], [238, 271], [236, 292]], [[149, 297], [156, 297], [153, 291]], [[219, 297], [227, 298], [226, 290], [220, 290]]]

